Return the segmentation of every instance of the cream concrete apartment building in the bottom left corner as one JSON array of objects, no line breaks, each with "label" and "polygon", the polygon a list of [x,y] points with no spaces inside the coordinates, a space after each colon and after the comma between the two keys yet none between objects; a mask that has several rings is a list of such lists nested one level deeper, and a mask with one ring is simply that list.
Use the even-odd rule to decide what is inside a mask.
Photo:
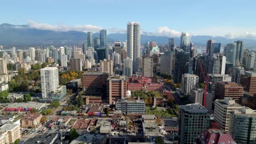
[{"label": "cream concrete apartment building in the bottom left corner", "polygon": [[7,123],[0,127],[1,143],[13,143],[17,139],[21,139],[20,124]]}]

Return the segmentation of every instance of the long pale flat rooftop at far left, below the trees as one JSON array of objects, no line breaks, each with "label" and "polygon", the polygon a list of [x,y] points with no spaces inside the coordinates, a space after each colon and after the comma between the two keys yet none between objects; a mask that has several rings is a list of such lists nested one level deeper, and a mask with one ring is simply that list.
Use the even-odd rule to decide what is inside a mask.
[{"label": "long pale flat rooftop at far left, below the trees", "polygon": [[37,102],[30,101],[28,103],[12,103],[12,104],[8,104],[7,107],[9,107],[9,108],[30,107],[30,108],[34,108],[34,109],[40,109],[44,105],[45,105],[45,103],[37,103]]}]

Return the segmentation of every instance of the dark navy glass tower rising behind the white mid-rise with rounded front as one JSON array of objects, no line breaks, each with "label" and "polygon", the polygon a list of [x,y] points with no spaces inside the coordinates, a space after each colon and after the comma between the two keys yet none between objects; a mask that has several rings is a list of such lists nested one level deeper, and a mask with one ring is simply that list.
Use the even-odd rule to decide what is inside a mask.
[{"label": "dark navy glass tower rising behind the white mid-rise with rounded front", "polygon": [[189,72],[189,52],[183,50],[175,50],[174,61],[174,82],[180,83],[182,81],[182,75]]}]

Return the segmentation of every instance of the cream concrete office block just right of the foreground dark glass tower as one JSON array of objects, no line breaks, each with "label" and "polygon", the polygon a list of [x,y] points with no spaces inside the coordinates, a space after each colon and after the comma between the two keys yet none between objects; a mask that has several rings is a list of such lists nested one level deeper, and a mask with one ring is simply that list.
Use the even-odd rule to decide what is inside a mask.
[{"label": "cream concrete office block just right of the foreground dark glass tower", "polygon": [[219,124],[219,128],[229,131],[229,118],[232,110],[240,110],[242,105],[237,104],[232,98],[215,100],[214,120]]}]

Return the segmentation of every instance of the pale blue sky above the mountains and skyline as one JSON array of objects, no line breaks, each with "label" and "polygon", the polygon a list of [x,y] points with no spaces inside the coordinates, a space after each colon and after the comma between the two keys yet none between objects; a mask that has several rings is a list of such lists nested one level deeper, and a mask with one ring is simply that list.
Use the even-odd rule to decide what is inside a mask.
[{"label": "pale blue sky above the mountains and skyline", "polygon": [[0,23],[54,31],[125,32],[129,21],[142,33],[212,35],[256,39],[254,0],[0,0]]}]

